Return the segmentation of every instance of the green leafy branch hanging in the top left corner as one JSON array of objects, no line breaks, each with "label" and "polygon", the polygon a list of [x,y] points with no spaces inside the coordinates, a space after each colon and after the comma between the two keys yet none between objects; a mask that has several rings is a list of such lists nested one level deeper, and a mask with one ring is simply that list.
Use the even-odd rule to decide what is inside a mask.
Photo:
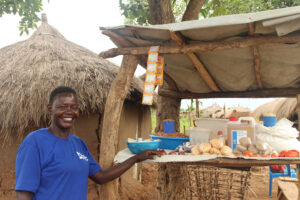
[{"label": "green leafy branch hanging in the top left corner", "polygon": [[0,17],[4,14],[18,14],[20,35],[29,33],[29,29],[37,28],[40,18],[37,13],[43,10],[42,0],[0,0]]}]

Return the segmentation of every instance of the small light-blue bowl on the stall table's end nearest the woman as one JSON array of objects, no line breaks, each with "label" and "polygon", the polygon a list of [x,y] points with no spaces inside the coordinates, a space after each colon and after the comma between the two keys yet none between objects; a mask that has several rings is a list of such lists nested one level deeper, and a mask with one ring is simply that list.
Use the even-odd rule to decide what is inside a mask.
[{"label": "small light-blue bowl on the stall table's end nearest the woman", "polygon": [[[153,141],[153,140],[152,140]],[[128,149],[133,154],[138,154],[146,150],[157,150],[160,144],[160,141],[153,142],[128,142],[126,141]]]}]

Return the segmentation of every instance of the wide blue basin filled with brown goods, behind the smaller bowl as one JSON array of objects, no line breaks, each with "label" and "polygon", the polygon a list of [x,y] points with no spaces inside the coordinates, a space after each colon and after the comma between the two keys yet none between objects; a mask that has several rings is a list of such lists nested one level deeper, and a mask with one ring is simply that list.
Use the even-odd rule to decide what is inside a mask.
[{"label": "wide blue basin filled with brown goods, behind the smaller bowl", "polygon": [[185,142],[189,142],[190,138],[176,138],[176,137],[163,137],[149,135],[152,139],[160,139],[159,148],[160,149],[170,149],[175,150],[178,146],[182,145]]}]

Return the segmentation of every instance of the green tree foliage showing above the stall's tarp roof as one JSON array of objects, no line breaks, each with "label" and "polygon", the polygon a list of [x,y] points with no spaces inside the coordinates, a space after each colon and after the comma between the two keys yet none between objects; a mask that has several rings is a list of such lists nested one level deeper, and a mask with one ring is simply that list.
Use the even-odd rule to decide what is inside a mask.
[{"label": "green tree foliage showing above the stall's tarp roof", "polygon": [[[176,22],[181,21],[189,0],[170,0]],[[119,0],[125,23],[149,25],[151,18],[147,0]],[[207,0],[200,10],[202,18],[258,12],[300,5],[300,0]]]}]

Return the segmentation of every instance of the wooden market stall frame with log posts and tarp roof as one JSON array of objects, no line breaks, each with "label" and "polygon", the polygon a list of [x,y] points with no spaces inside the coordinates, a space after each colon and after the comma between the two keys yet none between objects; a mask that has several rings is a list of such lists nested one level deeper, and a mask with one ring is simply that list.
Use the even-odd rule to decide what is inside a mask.
[{"label": "wooden market stall frame with log posts and tarp roof", "polygon": [[[165,63],[163,85],[158,90],[156,132],[162,131],[163,120],[170,118],[175,119],[178,130],[180,100],[188,98],[297,97],[299,116],[299,20],[299,7],[292,7],[148,27],[102,27],[102,33],[118,48],[100,56],[124,57],[108,96],[101,140],[116,144],[124,91],[137,64],[147,67],[147,55],[153,46],[159,46],[158,54],[164,56]],[[112,165],[116,153],[114,145],[101,144],[101,164]],[[297,164],[299,169],[299,160],[285,158],[216,157],[193,164],[240,168],[288,163]],[[169,170],[177,177],[186,173],[185,165],[173,167],[173,163],[162,163],[159,174],[172,177]],[[170,185],[179,183],[176,178],[168,181]],[[160,187],[167,196],[171,192],[163,184]],[[106,185],[104,192],[117,194],[116,184]]]}]

